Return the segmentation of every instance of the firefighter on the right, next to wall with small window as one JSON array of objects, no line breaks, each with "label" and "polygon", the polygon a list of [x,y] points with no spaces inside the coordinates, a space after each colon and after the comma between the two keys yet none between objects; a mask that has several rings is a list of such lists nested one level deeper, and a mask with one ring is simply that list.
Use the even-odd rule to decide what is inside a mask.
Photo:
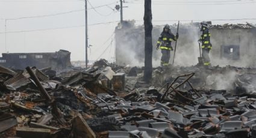
[{"label": "firefighter on the right, next to wall with small window", "polygon": [[202,59],[205,66],[211,65],[209,52],[212,48],[210,37],[211,34],[209,32],[209,27],[207,22],[201,22],[201,31],[202,35],[201,38],[198,40],[198,42],[202,43]]}]

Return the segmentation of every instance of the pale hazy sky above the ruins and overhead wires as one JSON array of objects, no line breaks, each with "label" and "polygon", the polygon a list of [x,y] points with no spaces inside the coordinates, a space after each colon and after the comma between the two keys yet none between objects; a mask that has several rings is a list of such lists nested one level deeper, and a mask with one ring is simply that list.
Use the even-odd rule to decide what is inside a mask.
[{"label": "pale hazy sky above the ruins and overhead wires", "polygon": [[[89,59],[114,56],[114,28],[120,12],[119,0],[89,0]],[[143,24],[143,0],[125,0],[123,19]],[[102,6],[106,5],[106,6]],[[254,0],[152,0],[153,25],[170,20],[213,20],[219,23],[256,23]],[[84,1],[0,0],[0,53],[55,52],[69,50],[72,61],[84,60]],[[219,20],[226,19],[226,20]],[[246,19],[246,20],[228,20]],[[254,20],[249,20],[254,19]],[[5,47],[5,20],[7,22]],[[186,21],[185,21],[186,20]]]}]

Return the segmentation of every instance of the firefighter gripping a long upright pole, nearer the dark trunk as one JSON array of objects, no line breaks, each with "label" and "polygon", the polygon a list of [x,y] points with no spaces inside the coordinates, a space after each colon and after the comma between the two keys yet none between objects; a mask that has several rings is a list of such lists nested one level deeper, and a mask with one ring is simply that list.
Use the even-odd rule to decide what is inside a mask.
[{"label": "firefighter gripping a long upright pole, nearer the dark trunk", "polygon": [[161,32],[160,37],[157,41],[157,50],[160,48],[162,57],[161,57],[161,66],[167,66],[169,65],[169,59],[170,59],[170,50],[173,50],[172,48],[172,41],[176,41],[179,37],[178,32],[176,33],[176,36],[170,32],[170,26],[165,25],[163,28],[163,32]]}]

